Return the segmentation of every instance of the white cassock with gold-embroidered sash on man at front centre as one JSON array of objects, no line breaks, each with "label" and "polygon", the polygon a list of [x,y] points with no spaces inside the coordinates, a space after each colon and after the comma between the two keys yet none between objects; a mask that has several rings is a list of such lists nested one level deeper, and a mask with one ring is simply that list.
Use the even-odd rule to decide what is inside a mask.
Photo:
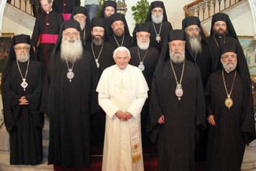
[{"label": "white cassock with gold-embroidered sash on man at front centre", "polygon": [[[148,85],[141,70],[127,65],[121,70],[113,65],[104,70],[96,88],[98,101],[106,112],[103,171],[144,170],[140,112],[148,98]],[[116,112],[129,112],[132,117],[121,121]]]}]

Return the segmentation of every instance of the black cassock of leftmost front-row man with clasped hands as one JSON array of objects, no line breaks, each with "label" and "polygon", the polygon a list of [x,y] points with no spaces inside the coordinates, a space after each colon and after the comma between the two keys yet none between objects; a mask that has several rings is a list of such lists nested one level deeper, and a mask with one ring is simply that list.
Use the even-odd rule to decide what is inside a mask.
[{"label": "black cassock of leftmost front-row man with clasped hands", "polygon": [[[19,65],[24,77],[27,62],[19,62]],[[36,165],[43,159],[41,130],[44,115],[39,110],[43,77],[40,63],[30,60],[25,91],[20,86],[22,77],[16,60],[12,62],[9,78],[9,88],[3,90],[3,107],[4,122],[10,133],[10,164]],[[28,105],[19,105],[22,96],[29,101]]]}]

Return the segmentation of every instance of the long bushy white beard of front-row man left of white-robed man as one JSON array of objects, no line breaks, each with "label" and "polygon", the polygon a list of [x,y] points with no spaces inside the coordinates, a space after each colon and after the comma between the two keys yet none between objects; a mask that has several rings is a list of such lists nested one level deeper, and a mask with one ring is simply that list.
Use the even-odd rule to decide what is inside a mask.
[{"label": "long bushy white beard of front-row man left of white-robed man", "polygon": [[[70,39],[69,39],[70,40]],[[74,42],[69,42],[69,40],[64,40],[64,36],[61,41],[61,59],[67,62],[75,62],[82,58],[83,46],[80,36],[78,40]]]}]

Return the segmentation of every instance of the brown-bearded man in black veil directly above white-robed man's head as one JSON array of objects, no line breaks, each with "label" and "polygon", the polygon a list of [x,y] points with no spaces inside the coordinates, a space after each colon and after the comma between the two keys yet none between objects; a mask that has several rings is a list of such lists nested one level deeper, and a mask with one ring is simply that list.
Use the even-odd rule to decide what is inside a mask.
[{"label": "brown-bearded man in black veil directly above white-robed man's head", "polygon": [[116,13],[111,15],[108,21],[107,31],[108,42],[112,44],[115,49],[120,46],[130,48],[132,37],[130,36],[124,14]]}]

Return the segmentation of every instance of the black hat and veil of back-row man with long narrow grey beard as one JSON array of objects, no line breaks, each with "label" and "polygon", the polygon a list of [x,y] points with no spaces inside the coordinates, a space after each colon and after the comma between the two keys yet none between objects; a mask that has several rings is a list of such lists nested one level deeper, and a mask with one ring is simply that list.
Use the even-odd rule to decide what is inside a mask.
[{"label": "black hat and veil of back-row man with long narrow grey beard", "polygon": [[202,41],[204,41],[204,43],[208,44],[205,34],[203,33],[203,28],[202,28],[201,22],[198,19],[198,17],[195,17],[195,16],[186,17],[185,19],[182,20],[182,30],[185,30],[190,25],[197,25],[197,27],[200,28],[200,35],[202,37]]}]

